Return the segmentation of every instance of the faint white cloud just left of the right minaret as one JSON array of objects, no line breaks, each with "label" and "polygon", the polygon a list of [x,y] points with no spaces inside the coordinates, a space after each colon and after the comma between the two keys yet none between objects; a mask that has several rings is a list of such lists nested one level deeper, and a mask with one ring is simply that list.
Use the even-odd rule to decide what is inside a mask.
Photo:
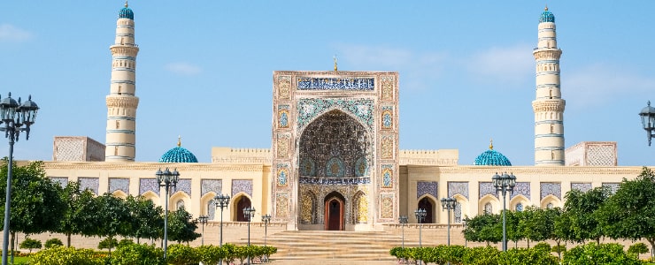
[{"label": "faint white cloud just left of the right minaret", "polygon": [[491,48],[475,53],[464,64],[469,72],[484,82],[518,84],[535,77],[535,59],[527,44]]}]

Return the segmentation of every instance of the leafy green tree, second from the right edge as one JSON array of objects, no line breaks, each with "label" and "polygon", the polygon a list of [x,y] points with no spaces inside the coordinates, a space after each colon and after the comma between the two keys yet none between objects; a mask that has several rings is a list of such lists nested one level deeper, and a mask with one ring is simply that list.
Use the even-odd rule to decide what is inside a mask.
[{"label": "leafy green tree, second from the right edge", "polygon": [[594,213],[603,206],[610,196],[610,189],[606,186],[596,187],[586,193],[579,190],[566,193],[564,211],[568,223],[571,225],[570,231],[572,234],[570,238],[573,241],[582,243],[587,239],[593,239],[599,244],[604,233]]}]

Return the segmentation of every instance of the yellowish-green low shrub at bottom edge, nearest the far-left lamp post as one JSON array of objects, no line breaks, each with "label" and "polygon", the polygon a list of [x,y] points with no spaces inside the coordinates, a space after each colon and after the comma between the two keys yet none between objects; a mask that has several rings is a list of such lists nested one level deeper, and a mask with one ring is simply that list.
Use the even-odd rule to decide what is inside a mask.
[{"label": "yellowish-green low shrub at bottom edge, nearest the far-left lamp post", "polygon": [[32,255],[30,265],[104,265],[104,259],[90,249],[55,246]]}]

